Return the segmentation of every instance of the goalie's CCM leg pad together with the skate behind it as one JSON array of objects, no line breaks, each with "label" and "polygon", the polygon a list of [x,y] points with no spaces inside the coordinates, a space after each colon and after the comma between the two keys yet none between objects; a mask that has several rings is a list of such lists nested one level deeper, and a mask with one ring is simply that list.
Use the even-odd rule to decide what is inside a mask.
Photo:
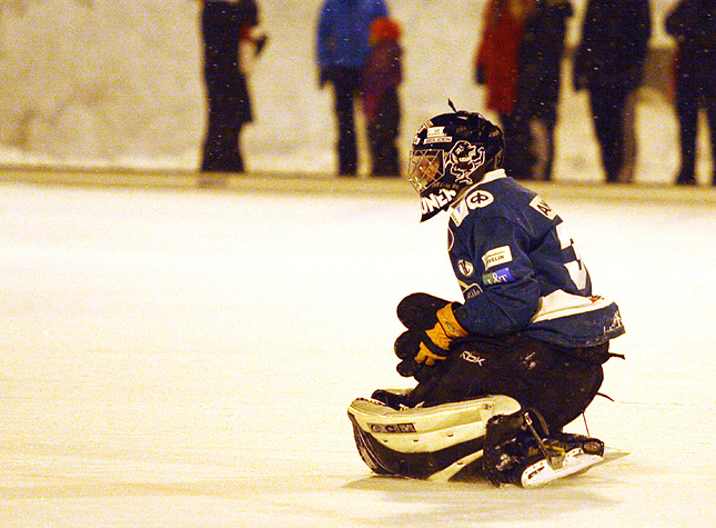
[{"label": "goalie's CCM leg pad together with the skate behind it", "polygon": [[[374,392],[400,399],[405,391]],[[349,407],[359,454],[379,475],[460,480],[486,478],[526,488],[584,471],[604,460],[595,438],[549,435],[538,412],[507,396],[434,407],[389,407],[359,398]]]}]

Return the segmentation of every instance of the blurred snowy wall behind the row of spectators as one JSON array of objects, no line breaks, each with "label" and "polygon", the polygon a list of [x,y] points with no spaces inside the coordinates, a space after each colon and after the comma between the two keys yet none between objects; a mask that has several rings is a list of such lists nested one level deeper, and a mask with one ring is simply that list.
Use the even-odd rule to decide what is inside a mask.
[{"label": "blurred snowy wall behind the row of spectators", "polygon": [[[652,2],[652,46],[672,44],[663,19],[673,1]],[[447,97],[482,107],[471,61],[485,0],[387,3],[404,27],[406,145]],[[571,42],[584,3],[575,2]],[[315,82],[321,0],[259,4],[271,41],[249,64],[256,118],[243,136],[249,169],[333,172],[332,96]],[[1,165],[196,168],[205,112],[196,1],[0,0],[0,64]],[[586,96],[566,83],[561,110],[556,178],[601,178]],[[637,178],[670,180],[676,132],[663,94],[643,90],[638,126],[648,141]]]}]

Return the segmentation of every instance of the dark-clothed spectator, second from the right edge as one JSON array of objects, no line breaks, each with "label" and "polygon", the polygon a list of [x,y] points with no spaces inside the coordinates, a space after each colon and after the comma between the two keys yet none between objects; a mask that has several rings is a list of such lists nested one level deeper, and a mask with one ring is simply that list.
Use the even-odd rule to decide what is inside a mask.
[{"label": "dark-clothed spectator, second from the right edge", "polygon": [[574,88],[587,89],[607,182],[631,182],[635,106],[652,19],[648,0],[588,0],[574,58]]}]

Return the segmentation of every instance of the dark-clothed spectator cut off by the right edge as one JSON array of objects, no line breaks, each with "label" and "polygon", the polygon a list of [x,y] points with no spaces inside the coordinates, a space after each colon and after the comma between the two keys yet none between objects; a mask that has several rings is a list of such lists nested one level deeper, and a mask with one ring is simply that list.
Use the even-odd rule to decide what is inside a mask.
[{"label": "dark-clothed spectator cut off by the right edge", "polygon": [[716,0],[682,0],[666,17],[666,31],[676,39],[676,116],[680,141],[677,185],[696,185],[698,109],[708,120],[716,186]]}]

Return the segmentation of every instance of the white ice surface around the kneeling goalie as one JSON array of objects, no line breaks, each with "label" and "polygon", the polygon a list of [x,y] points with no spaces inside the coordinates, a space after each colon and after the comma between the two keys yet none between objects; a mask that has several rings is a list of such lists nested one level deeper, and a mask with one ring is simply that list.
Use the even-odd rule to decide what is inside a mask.
[{"label": "white ice surface around the kneeling goalie", "polygon": [[622,308],[587,421],[632,455],[523,490],[355,451],[395,305],[460,297],[411,192],[0,183],[0,526],[715,526],[716,197],[579,189],[541,192]]}]

